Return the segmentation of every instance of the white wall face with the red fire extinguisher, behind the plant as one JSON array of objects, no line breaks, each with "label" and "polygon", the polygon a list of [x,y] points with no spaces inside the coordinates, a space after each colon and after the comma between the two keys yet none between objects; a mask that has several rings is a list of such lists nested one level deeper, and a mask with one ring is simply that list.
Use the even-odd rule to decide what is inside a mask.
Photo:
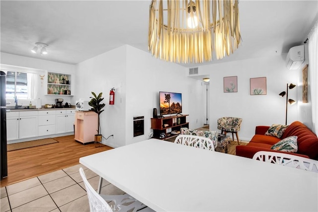
[{"label": "white wall face with the red fire extinguisher, behind the plant", "polygon": [[[118,147],[125,145],[125,92],[126,92],[126,47],[122,46],[112,51],[88,59],[77,65],[76,99],[87,99],[91,91],[102,92],[104,112],[100,114],[101,134],[108,138],[102,142]],[[109,105],[109,91],[115,87],[115,104]]]}]

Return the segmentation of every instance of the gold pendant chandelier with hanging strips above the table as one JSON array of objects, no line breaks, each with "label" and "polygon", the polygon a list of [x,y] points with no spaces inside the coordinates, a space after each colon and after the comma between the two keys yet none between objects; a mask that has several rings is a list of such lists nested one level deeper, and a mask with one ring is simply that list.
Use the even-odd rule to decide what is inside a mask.
[{"label": "gold pendant chandelier with hanging strips above the table", "polygon": [[152,0],[148,49],[174,63],[202,63],[239,47],[238,0]]}]

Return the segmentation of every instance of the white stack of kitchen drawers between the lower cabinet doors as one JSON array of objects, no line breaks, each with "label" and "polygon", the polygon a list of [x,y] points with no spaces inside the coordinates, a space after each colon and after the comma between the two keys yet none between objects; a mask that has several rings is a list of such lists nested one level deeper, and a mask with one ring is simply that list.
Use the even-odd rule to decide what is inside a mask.
[{"label": "white stack of kitchen drawers between the lower cabinet doors", "polygon": [[39,111],[39,136],[55,134],[55,110]]}]

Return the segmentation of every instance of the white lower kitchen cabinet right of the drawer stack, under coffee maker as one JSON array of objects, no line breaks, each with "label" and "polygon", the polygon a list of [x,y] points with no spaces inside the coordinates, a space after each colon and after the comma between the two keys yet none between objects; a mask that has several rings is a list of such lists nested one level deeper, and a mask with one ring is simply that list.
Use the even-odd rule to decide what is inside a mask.
[{"label": "white lower kitchen cabinet right of the drawer stack, under coffee maker", "polygon": [[75,110],[56,111],[56,134],[73,132]]}]

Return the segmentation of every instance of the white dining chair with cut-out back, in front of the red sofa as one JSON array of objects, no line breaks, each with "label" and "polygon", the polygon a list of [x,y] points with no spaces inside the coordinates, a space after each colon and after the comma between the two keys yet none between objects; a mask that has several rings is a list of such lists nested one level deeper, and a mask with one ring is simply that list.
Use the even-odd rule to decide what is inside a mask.
[{"label": "white dining chair with cut-out back, in front of the red sofa", "polygon": [[271,151],[258,151],[254,154],[253,159],[318,173],[317,160],[300,157],[293,154]]}]

